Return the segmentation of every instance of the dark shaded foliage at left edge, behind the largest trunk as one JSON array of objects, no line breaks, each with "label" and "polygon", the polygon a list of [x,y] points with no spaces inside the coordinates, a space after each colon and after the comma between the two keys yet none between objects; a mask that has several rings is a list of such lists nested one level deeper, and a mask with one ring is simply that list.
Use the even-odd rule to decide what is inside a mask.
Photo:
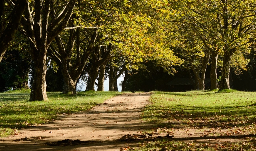
[{"label": "dark shaded foliage at left edge, behind the largest trunk", "polygon": [[18,32],[13,41],[0,63],[0,91],[29,88],[28,79],[32,65],[29,44],[26,37]]}]

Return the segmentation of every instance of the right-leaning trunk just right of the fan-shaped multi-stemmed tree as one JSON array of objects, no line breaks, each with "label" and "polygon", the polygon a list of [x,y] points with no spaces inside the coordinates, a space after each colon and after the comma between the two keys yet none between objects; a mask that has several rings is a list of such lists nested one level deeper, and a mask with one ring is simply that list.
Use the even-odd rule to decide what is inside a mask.
[{"label": "right-leaning trunk just right of the fan-shaped multi-stemmed tree", "polygon": [[86,86],[86,90],[85,91],[95,91],[94,86],[95,86],[95,81],[96,78],[98,77],[98,73],[99,73],[99,67],[91,67],[88,77],[88,81],[87,81],[87,86]]}]

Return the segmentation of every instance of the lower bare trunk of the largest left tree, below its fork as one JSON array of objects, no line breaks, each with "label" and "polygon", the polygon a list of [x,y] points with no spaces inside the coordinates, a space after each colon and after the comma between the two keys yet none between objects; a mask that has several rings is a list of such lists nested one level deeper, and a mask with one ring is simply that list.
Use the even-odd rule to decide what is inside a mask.
[{"label": "lower bare trunk of the largest left tree, below its fork", "polygon": [[31,93],[29,98],[30,101],[48,100],[46,95],[46,82],[45,82],[45,75],[47,70],[46,53],[43,58],[44,58],[43,61],[34,60],[35,74],[34,74],[33,84],[31,87]]}]

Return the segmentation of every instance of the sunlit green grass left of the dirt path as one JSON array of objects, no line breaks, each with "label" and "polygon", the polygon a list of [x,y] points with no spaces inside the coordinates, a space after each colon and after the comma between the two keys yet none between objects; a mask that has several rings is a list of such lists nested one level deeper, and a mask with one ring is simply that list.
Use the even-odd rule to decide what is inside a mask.
[{"label": "sunlit green grass left of the dirt path", "polygon": [[31,125],[47,123],[63,113],[86,111],[120,92],[79,92],[77,96],[48,92],[50,101],[28,101],[30,90],[0,93],[0,137]]}]

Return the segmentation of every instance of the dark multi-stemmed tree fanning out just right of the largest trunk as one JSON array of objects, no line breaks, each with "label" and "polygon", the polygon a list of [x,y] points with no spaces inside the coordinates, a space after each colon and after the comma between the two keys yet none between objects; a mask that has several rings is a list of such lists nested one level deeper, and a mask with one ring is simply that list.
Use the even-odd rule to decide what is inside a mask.
[{"label": "dark multi-stemmed tree fanning out just right of the largest trunk", "polygon": [[[65,83],[62,91],[64,94],[70,93],[76,95],[76,83],[87,64],[90,53],[94,49],[93,44],[97,38],[97,32],[83,32],[87,33],[84,41],[80,40],[80,28],[77,28],[76,30],[70,29],[68,35],[63,35],[64,37],[69,36],[66,43],[61,39],[61,35],[58,35],[54,42],[58,49],[56,49],[53,44],[49,48],[52,58],[56,61],[64,77]],[[81,43],[84,43],[85,45],[81,47]],[[75,52],[74,44],[76,44]]]}]

